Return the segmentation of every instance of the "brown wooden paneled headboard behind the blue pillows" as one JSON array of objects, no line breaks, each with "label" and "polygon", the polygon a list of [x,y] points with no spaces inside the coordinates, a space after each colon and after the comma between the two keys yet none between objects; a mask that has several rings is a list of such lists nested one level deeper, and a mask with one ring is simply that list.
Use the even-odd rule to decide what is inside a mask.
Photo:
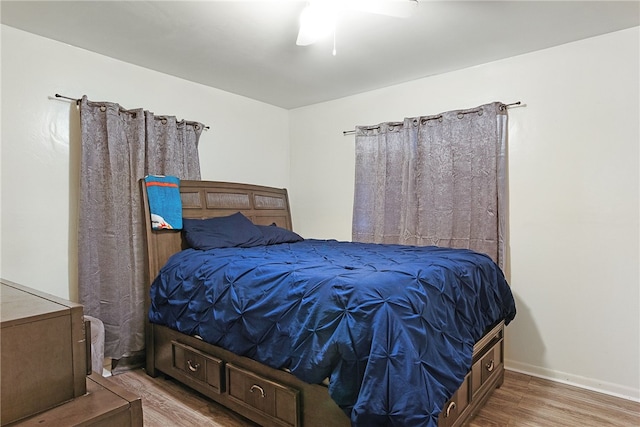
[{"label": "brown wooden paneled headboard behind the blue pillows", "polygon": [[[182,233],[174,230],[153,230],[149,200],[144,179],[140,180],[145,224],[147,269],[145,282],[149,286],[169,257],[187,246]],[[217,181],[180,181],[183,218],[214,218],[241,212],[258,225],[271,225],[291,230],[289,197],[284,188]]]}]

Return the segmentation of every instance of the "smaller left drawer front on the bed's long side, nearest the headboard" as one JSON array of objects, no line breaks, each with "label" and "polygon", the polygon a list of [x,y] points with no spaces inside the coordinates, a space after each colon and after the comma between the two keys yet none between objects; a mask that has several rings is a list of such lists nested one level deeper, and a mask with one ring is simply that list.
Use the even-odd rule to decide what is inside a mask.
[{"label": "smaller left drawer front on the bed's long side, nearest the headboard", "polygon": [[193,380],[206,384],[216,393],[224,391],[222,360],[178,341],[172,341],[171,344],[174,369],[180,370]]}]

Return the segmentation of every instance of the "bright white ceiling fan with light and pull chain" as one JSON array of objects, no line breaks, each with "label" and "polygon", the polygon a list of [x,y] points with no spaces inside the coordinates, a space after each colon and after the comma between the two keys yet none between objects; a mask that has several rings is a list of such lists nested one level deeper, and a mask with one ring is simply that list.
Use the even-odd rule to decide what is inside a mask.
[{"label": "bright white ceiling fan with light and pull chain", "polygon": [[348,11],[407,18],[418,5],[418,0],[311,0],[300,14],[300,31],[296,44],[308,46],[333,34],[340,16]]}]

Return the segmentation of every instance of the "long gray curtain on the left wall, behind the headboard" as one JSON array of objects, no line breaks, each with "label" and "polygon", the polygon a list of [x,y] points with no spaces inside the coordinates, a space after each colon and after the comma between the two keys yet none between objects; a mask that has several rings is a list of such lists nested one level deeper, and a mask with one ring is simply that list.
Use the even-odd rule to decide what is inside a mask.
[{"label": "long gray curtain on the left wall, behind the headboard", "polygon": [[139,180],[200,179],[203,125],[118,104],[80,101],[80,303],[104,323],[104,355],[144,349],[144,231]]}]

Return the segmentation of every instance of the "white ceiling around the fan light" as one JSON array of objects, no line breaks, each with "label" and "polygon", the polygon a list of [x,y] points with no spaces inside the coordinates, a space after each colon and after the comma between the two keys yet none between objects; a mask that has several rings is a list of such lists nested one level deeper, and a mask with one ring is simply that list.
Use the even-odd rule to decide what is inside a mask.
[{"label": "white ceiling around the fan light", "polygon": [[640,25],[639,1],[430,1],[350,12],[296,46],[305,1],[7,1],[2,23],[283,108]]}]

